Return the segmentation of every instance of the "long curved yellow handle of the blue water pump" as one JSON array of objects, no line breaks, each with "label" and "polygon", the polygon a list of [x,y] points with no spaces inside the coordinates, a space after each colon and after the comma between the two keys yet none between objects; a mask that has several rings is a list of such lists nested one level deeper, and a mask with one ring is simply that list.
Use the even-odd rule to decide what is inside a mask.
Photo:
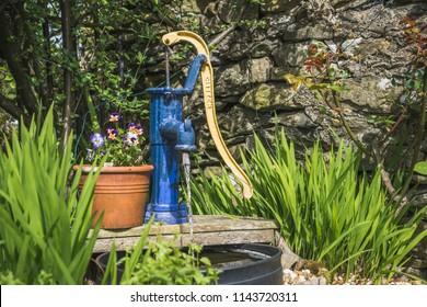
[{"label": "long curved yellow handle of the blue water pump", "polygon": [[209,132],[223,161],[230,168],[233,174],[242,182],[243,196],[251,198],[253,194],[252,183],[231,156],[222,139],[221,133],[219,132],[217,114],[215,112],[214,72],[212,65],[210,64],[208,46],[200,38],[200,36],[189,31],[171,32],[163,35],[162,37],[162,42],[166,46],[172,46],[176,43],[180,43],[181,41],[193,44],[196,47],[198,55],[206,55],[207,60],[200,68],[200,78],[204,89],[205,112]]}]

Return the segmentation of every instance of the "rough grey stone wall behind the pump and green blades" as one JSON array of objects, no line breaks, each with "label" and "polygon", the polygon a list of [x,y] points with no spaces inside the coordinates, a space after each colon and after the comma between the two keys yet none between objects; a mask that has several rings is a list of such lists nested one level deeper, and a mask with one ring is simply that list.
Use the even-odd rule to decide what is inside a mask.
[{"label": "rough grey stone wall behind the pump and green blades", "polygon": [[[254,133],[265,141],[273,139],[275,115],[301,152],[318,138],[326,150],[336,144],[331,128],[348,139],[336,112],[311,91],[295,91],[284,79],[286,73],[301,72],[313,39],[331,48],[341,45],[348,55],[339,65],[350,73],[346,81],[349,91],[342,101],[351,129],[367,145],[383,138],[385,129],[372,118],[396,115],[402,110],[403,88],[392,81],[402,80],[411,67],[402,19],[409,15],[427,24],[426,1],[265,0],[263,5],[253,2],[185,0],[180,10],[187,24],[191,19],[197,21],[200,33],[216,32],[203,36],[208,43],[217,42],[211,50],[217,116],[234,158],[239,160],[239,148],[253,145]],[[221,29],[228,31],[219,39]],[[217,172],[220,160],[207,130],[199,93],[196,91],[185,103],[185,113],[195,125],[200,166]],[[392,137],[413,135],[415,122],[403,121]],[[419,159],[426,159],[426,154],[424,141]],[[424,260],[418,268],[427,268],[426,242],[423,247]]]}]

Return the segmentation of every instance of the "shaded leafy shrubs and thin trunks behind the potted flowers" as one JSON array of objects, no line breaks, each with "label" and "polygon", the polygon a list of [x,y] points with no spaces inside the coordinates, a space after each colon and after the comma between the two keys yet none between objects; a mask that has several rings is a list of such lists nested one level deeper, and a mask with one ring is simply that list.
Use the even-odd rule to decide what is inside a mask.
[{"label": "shaded leafy shrubs and thin trunks behind the potted flowers", "polygon": [[108,111],[146,118],[137,82],[157,62],[171,14],[160,1],[2,2],[1,109],[30,124],[54,103],[56,130],[66,136],[74,127],[77,135],[96,130]]}]

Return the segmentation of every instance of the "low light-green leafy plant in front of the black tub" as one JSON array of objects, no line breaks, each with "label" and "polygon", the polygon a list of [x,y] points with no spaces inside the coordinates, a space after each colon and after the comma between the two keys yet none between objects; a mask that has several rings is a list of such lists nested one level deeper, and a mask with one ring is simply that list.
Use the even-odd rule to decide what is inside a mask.
[{"label": "low light-green leafy plant in front of the black tub", "polygon": [[[152,221],[147,225],[138,245],[117,261],[113,245],[103,284],[123,285],[208,285],[218,280],[219,271],[211,266],[209,259],[200,258],[201,247],[191,245],[187,251],[176,247],[176,242],[148,242]],[[117,265],[123,263],[124,273],[118,281]]]}]

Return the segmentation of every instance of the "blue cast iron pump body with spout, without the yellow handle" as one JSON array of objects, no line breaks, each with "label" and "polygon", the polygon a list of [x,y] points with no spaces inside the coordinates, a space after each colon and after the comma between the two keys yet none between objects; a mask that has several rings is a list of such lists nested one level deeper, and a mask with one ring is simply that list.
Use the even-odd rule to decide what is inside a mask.
[{"label": "blue cast iron pump body with spout, without the yellow handle", "polygon": [[[178,203],[181,154],[196,150],[195,133],[189,120],[183,121],[183,99],[196,84],[206,56],[192,62],[183,89],[150,88],[151,198],[146,208],[146,223],[182,224],[188,221],[185,204]],[[169,82],[168,82],[169,83]]]}]

